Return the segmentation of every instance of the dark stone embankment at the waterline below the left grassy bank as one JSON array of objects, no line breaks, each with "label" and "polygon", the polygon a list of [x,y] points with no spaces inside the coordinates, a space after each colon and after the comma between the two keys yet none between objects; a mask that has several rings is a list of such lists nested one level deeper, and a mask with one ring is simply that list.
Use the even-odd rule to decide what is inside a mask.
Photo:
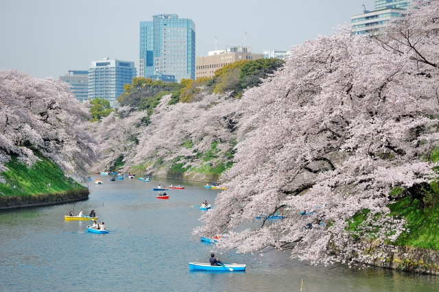
[{"label": "dark stone embankment at the waterline below the left grassy bank", "polygon": [[3,196],[0,197],[0,210],[78,202],[88,199],[88,195],[90,195],[88,188],[79,188],[71,191],[41,195]]}]

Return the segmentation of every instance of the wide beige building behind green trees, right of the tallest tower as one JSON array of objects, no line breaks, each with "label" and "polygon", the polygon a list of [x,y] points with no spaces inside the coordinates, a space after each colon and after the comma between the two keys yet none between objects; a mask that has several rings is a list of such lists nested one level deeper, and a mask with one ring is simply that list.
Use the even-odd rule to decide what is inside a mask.
[{"label": "wide beige building behind green trees, right of the tallest tower", "polygon": [[228,47],[227,49],[217,49],[209,51],[207,56],[197,57],[196,73],[197,78],[213,77],[217,69],[241,60],[263,59],[263,54],[252,53],[251,47]]}]

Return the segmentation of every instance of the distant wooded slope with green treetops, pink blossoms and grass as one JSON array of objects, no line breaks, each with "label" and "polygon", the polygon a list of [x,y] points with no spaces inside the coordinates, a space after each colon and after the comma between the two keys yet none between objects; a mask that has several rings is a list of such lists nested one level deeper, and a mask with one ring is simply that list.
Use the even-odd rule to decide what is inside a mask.
[{"label": "distant wooded slope with green treetops, pink blossoms and grass", "polygon": [[233,163],[235,101],[283,63],[244,60],[180,84],[135,77],[118,99],[121,107],[91,124],[103,154],[95,169],[219,180]]}]

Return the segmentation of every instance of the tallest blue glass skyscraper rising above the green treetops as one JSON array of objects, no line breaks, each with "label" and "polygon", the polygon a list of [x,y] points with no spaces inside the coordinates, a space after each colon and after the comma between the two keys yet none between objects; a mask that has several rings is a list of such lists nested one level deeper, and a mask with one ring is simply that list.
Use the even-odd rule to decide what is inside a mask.
[{"label": "tallest blue glass skyscraper rising above the green treetops", "polygon": [[139,77],[174,75],[195,79],[195,23],[177,14],[159,14],[140,23]]}]

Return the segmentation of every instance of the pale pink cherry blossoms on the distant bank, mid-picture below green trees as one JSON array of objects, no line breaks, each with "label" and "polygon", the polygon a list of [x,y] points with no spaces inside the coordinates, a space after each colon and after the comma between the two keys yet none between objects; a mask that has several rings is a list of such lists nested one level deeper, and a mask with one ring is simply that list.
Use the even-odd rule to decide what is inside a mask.
[{"label": "pale pink cherry blossoms on the distant bank, mid-picture below green trees", "polygon": [[[205,95],[200,101],[171,106],[168,105],[169,99],[170,95],[161,99],[150,125],[141,130],[139,145],[127,158],[128,165],[145,165],[147,173],[154,171],[157,175],[166,175],[169,166],[161,168],[161,165],[148,162],[162,158],[165,165],[185,158],[185,166],[196,168],[203,164],[197,154],[209,151],[214,141],[219,142],[217,148],[220,154],[233,149],[233,130],[239,104],[236,99],[228,95]],[[184,147],[187,142],[192,147]],[[219,157],[217,163],[227,160]],[[199,175],[201,179],[202,174]]]}]

